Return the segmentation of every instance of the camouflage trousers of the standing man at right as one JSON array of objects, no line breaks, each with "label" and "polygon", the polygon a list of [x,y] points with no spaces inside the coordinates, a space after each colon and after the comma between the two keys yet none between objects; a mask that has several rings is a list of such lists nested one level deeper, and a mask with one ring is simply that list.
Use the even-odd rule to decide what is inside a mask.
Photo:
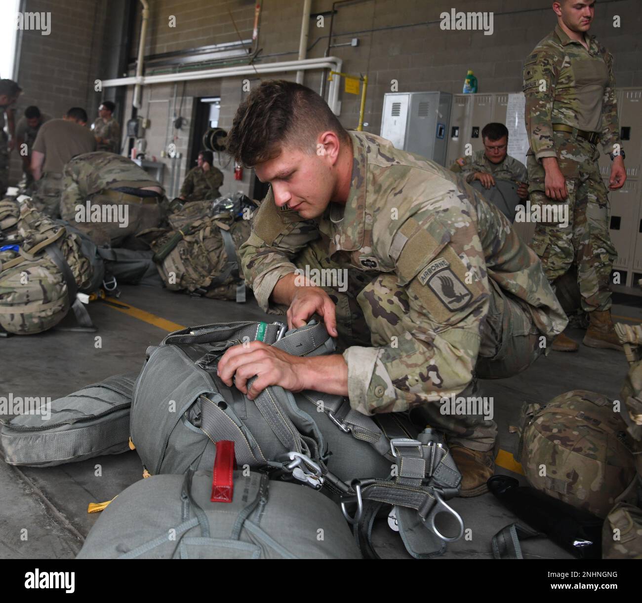
[{"label": "camouflage trousers of the standing man at right", "polygon": [[[609,236],[609,197],[600,175],[598,149],[587,140],[572,139],[555,132],[560,171],[566,179],[569,223],[537,223],[531,247],[542,260],[549,282],[566,274],[577,264],[577,280],[582,309],[608,310],[611,307],[609,278],[618,253]],[[528,156],[528,192],[532,206],[557,204],[546,196],[544,168],[533,155]]]}]

